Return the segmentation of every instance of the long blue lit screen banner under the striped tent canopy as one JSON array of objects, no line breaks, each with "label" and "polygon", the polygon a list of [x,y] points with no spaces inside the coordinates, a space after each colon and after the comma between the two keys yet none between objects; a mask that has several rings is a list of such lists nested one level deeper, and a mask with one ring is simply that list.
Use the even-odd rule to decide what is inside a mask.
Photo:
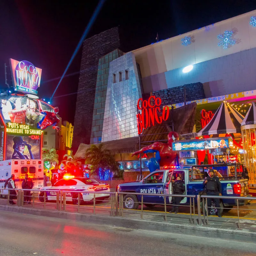
[{"label": "long blue lit screen banner under the striped tent canopy", "polygon": [[209,138],[202,140],[179,140],[172,142],[172,150],[205,150],[214,148],[233,147],[233,140],[230,137]]}]

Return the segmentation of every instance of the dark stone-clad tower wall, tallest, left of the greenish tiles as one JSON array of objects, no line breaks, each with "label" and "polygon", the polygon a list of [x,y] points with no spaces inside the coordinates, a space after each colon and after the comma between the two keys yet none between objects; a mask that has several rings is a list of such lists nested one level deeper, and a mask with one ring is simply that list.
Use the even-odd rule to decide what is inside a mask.
[{"label": "dark stone-clad tower wall, tallest, left of the greenish tiles", "polygon": [[74,151],[90,144],[98,64],[101,56],[120,48],[118,27],[101,32],[83,43],[74,122]]}]

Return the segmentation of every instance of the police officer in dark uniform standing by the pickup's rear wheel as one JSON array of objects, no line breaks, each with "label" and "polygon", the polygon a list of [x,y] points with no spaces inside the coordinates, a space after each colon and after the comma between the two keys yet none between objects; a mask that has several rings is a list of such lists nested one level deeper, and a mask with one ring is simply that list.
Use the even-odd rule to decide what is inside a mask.
[{"label": "police officer in dark uniform standing by the pickup's rear wheel", "polygon": [[[208,171],[209,176],[206,177],[206,179],[203,182],[203,185],[205,187],[206,195],[208,196],[221,196],[221,183],[218,177],[214,176],[213,169],[209,169]],[[207,198],[207,211],[208,215],[210,215],[212,200],[215,203],[217,210],[218,217],[221,217],[220,215],[220,199],[218,198]]]}]

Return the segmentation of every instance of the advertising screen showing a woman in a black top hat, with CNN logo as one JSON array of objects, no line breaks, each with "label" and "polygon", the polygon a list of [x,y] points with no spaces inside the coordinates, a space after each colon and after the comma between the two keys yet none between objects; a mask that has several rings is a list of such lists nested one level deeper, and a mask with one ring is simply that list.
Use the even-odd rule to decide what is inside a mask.
[{"label": "advertising screen showing a woman in a black top hat, with CNN logo", "polygon": [[6,135],[5,160],[40,159],[41,135]]}]

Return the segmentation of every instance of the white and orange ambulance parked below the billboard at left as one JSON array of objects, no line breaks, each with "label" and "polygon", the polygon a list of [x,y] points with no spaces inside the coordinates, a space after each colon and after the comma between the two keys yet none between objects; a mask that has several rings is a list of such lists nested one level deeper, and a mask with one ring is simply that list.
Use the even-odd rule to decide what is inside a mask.
[{"label": "white and orange ambulance parked below the billboard at left", "polygon": [[5,197],[8,190],[4,189],[4,183],[14,174],[16,189],[21,188],[25,174],[33,180],[33,189],[44,186],[44,161],[41,159],[11,159],[0,161],[0,194]]}]

